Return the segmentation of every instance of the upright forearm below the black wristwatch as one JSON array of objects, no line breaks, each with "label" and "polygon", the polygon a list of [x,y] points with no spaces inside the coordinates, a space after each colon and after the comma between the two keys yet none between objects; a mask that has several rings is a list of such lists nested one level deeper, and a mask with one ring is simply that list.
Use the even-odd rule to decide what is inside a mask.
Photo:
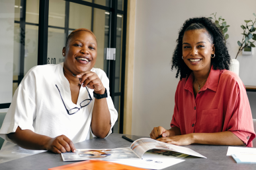
[{"label": "upright forearm below the black wristwatch", "polygon": [[108,110],[107,99],[95,99],[91,120],[91,130],[93,134],[98,138],[105,138],[110,127],[110,112]]}]

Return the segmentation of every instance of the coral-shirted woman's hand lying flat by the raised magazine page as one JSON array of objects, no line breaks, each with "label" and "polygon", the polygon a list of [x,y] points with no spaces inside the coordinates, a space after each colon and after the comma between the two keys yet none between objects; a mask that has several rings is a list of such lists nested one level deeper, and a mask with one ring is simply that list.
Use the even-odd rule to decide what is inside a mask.
[{"label": "coral-shirted woman's hand lying flat by the raised magazine page", "polygon": [[189,145],[194,143],[192,134],[183,134],[177,136],[171,136],[167,138],[158,138],[157,140],[168,144],[174,144],[178,146]]}]

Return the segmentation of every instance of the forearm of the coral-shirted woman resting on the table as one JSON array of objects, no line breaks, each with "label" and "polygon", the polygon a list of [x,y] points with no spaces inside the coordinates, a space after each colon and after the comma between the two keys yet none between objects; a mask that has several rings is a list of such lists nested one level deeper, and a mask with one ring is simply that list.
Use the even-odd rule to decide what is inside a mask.
[{"label": "forearm of the coral-shirted woman resting on the table", "polygon": [[244,146],[234,133],[230,131],[216,133],[192,133],[192,144],[211,144],[211,145],[237,145]]}]

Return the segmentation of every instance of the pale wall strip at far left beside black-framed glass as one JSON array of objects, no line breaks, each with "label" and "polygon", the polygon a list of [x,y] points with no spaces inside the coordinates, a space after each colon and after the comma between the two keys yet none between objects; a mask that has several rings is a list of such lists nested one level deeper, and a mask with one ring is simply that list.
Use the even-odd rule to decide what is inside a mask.
[{"label": "pale wall strip at far left beside black-framed glass", "polygon": [[14,5],[14,0],[0,2],[0,103],[11,103],[13,96]]}]

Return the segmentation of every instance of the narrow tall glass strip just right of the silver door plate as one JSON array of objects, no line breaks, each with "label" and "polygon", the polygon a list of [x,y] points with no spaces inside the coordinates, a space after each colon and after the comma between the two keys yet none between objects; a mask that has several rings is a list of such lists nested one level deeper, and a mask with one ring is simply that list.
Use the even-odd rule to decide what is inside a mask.
[{"label": "narrow tall glass strip just right of the silver door plate", "polygon": [[114,78],[114,92],[121,91],[121,71],[122,71],[122,15],[117,14],[116,23],[116,72]]}]

